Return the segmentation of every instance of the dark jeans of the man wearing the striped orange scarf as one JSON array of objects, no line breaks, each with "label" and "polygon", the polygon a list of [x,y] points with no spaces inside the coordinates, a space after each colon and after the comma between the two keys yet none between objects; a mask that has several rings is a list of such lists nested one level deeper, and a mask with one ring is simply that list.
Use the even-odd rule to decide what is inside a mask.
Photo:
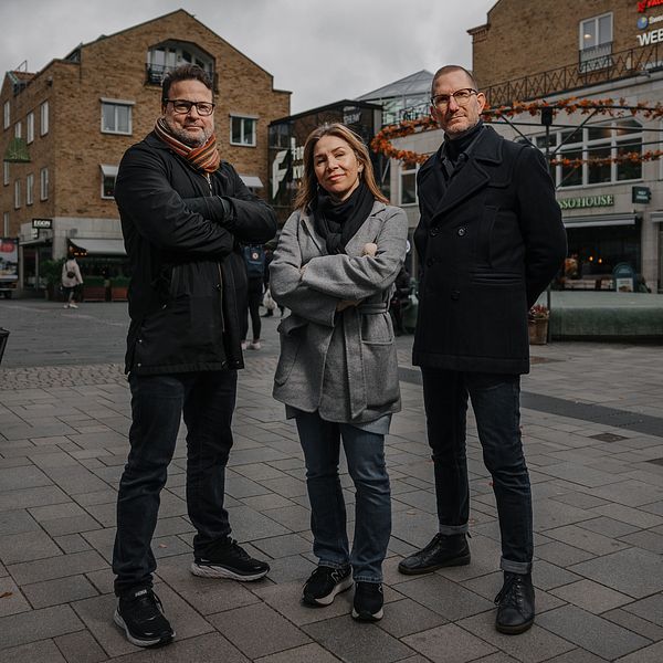
[{"label": "dark jeans of the man wearing the striped orange scarf", "polygon": [[193,549],[204,550],[230,534],[223,493],[236,379],[234,370],[129,376],[130,451],[119,482],[113,550],[117,596],[131,588],[151,587],[157,562],[150,544],[182,413],[187,424],[187,508],[197,530]]}]

